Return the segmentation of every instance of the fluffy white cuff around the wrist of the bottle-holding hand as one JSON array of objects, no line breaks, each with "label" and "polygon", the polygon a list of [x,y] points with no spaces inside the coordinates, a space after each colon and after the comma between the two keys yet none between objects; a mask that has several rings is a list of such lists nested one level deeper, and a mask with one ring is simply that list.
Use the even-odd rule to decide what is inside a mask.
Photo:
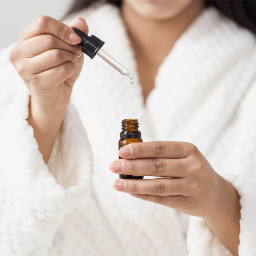
[{"label": "fluffy white cuff around the wrist of the bottle-holding hand", "polygon": [[[241,204],[239,256],[256,255],[256,182],[223,175],[237,190]],[[191,217],[187,232],[189,256],[232,256],[200,217]]]}]

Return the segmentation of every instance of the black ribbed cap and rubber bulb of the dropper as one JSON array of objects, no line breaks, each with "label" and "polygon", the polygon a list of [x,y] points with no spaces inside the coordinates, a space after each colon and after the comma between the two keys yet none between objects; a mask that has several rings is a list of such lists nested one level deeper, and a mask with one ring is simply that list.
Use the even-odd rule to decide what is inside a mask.
[{"label": "black ribbed cap and rubber bulb of the dropper", "polygon": [[93,59],[98,50],[100,50],[100,48],[102,47],[102,45],[104,45],[105,42],[101,41],[95,35],[91,35],[89,37],[89,35],[85,35],[85,33],[83,33],[77,28],[72,28],[72,30],[74,30],[74,32],[76,32],[82,39],[82,42],[80,43],[80,45],[82,45],[82,52],[84,52],[91,59]]}]

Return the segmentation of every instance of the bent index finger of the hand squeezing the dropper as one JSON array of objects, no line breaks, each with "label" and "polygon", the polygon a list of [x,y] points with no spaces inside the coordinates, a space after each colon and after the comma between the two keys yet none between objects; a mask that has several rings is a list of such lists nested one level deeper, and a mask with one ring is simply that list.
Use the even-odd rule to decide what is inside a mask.
[{"label": "bent index finger of the hand squeezing the dropper", "polygon": [[81,42],[81,38],[66,24],[52,17],[43,15],[33,20],[21,33],[19,41],[42,34],[52,34],[62,41],[76,45]]}]

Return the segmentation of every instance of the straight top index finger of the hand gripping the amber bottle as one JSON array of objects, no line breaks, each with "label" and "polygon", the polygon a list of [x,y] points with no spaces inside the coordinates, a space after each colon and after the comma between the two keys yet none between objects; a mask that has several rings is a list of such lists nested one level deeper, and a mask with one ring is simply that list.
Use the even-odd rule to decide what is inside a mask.
[{"label": "straight top index finger of the hand gripping the amber bottle", "polygon": [[180,141],[150,141],[131,143],[120,148],[118,155],[127,159],[138,158],[186,158],[196,148]]}]

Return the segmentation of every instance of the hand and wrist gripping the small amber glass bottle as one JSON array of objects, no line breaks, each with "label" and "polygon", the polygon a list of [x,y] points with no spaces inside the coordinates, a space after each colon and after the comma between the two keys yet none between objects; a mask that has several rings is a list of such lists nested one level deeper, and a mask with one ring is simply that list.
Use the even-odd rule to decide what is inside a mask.
[{"label": "hand and wrist gripping the small amber glass bottle", "polygon": [[115,180],[118,191],[202,217],[233,255],[238,255],[240,205],[236,189],[217,174],[191,143],[132,143],[111,163],[114,173],[161,178]]}]

